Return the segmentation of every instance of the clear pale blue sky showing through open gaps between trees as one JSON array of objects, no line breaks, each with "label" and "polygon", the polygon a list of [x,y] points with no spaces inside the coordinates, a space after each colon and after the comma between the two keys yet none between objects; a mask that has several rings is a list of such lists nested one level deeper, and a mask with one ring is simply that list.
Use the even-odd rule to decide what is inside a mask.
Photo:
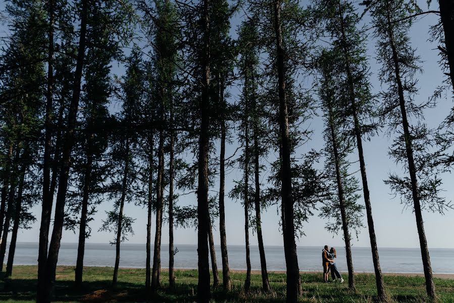
[{"label": "clear pale blue sky showing through open gaps between trees", "polygon": [[[426,9],[426,1],[419,1],[422,8]],[[304,1],[306,3],[306,1]],[[436,2],[434,2],[436,3]],[[432,9],[438,7],[432,5]],[[238,16],[233,21],[234,26],[238,24]],[[438,66],[438,52],[436,44],[430,44],[429,26],[437,21],[437,16],[428,15],[418,19],[411,30],[412,43],[418,48],[418,53],[424,61],[424,73],[419,75],[419,98],[426,100],[441,83],[443,79],[442,72]],[[372,71],[372,85],[375,92],[381,89],[380,82],[377,80],[377,70],[379,65],[375,60],[375,45],[374,41],[369,42],[368,55],[370,56],[370,64]],[[114,69],[116,73],[122,73],[120,67]],[[231,88],[232,93],[237,91],[237,88]],[[233,93],[233,96],[235,94]],[[452,96],[447,94],[445,98],[439,100],[438,107],[426,112],[426,121],[430,126],[437,126],[447,115],[449,109],[454,106]],[[302,146],[297,153],[305,153],[310,148],[320,149],[323,146],[323,122],[320,117],[314,117],[311,121],[311,128],[314,130],[313,139],[305,146]],[[416,230],[415,216],[411,210],[403,210],[400,205],[399,198],[392,198],[389,188],[384,184],[383,180],[387,178],[389,172],[400,171],[400,167],[396,166],[388,157],[389,139],[385,134],[373,137],[371,141],[364,143],[368,179],[370,184],[370,193],[372,201],[372,211],[375,220],[375,229],[379,247],[418,247],[418,234]],[[227,155],[230,156],[236,149],[235,145],[228,146]],[[357,155],[353,155],[357,157]],[[359,169],[354,167],[352,171]],[[233,179],[240,179],[241,173],[232,171],[226,176],[226,192],[233,186]],[[266,179],[266,178],[264,178]],[[452,187],[454,178],[450,174],[443,175],[444,192],[446,198],[451,200],[454,197],[454,188]],[[187,205],[195,204],[195,195],[185,195],[180,198],[178,204]],[[363,203],[360,198],[360,203]],[[100,205],[98,213],[95,215],[95,220],[90,222],[92,227],[92,236],[88,242],[108,243],[113,239],[113,234],[105,232],[97,232],[101,225],[101,221],[106,217],[105,211],[111,209],[110,201],[105,201]],[[21,230],[18,235],[18,241],[38,241],[39,232],[39,215],[40,206],[36,206],[33,212],[37,215],[38,221],[30,230]],[[136,218],[133,225],[135,235],[129,237],[130,243],[144,243],[146,239],[146,211],[134,205],[125,207],[125,214]],[[449,240],[452,237],[446,237],[449,231],[454,230],[454,211],[447,212],[445,216],[425,212],[423,214],[426,236],[428,245],[431,248],[454,248],[454,242]],[[263,236],[265,245],[282,245],[282,235],[278,229],[279,215],[276,207],[271,207],[262,215],[263,219]],[[153,220],[155,218],[153,217]],[[367,225],[366,220],[364,220]],[[215,223],[217,226],[218,223]],[[239,203],[232,201],[226,197],[226,227],[227,227],[227,243],[228,244],[244,244],[244,212]],[[215,243],[219,244],[219,229],[216,227]],[[153,235],[155,226],[153,226]],[[325,243],[332,246],[343,246],[342,237],[333,235],[325,231],[324,221],[317,217],[310,218],[305,224],[306,236],[297,240],[298,245],[316,245],[323,246]],[[177,229],[174,233],[176,244],[196,244],[197,234],[194,230]],[[255,234],[251,234],[251,244],[257,245]],[[163,243],[168,243],[168,226],[164,226]],[[65,231],[62,242],[77,242],[77,235],[71,231]],[[363,229],[359,240],[354,241],[355,246],[370,246],[367,229]]]}]

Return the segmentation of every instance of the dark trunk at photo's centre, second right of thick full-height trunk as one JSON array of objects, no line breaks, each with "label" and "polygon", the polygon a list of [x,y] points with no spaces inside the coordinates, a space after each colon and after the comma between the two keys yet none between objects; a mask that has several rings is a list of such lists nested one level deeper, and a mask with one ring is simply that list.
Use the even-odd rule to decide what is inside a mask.
[{"label": "dark trunk at photo's centre, second right of thick full-height trunk", "polygon": [[[220,102],[224,103],[224,83],[221,80],[220,84]],[[222,257],[222,283],[224,290],[230,290],[232,288],[232,282],[230,281],[229,271],[229,258],[227,254],[227,236],[225,232],[225,118],[222,117],[221,121],[221,151],[219,156],[219,232],[221,234],[221,257]]]}]

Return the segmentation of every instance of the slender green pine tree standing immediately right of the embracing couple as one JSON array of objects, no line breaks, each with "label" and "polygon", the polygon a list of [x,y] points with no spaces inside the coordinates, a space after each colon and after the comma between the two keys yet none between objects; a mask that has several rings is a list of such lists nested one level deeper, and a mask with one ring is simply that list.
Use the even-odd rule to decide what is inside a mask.
[{"label": "slender green pine tree standing immediately right of the embracing couple", "polygon": [[[321,109],[325,120],[325,174],[327,194],[324,199],[324,206],[321,208],[321,217],[334,219],[328,222],[326,229],[337,233],[339,227],[343,231],[345,251],[348,268],[348,286],[355,289],[355,275],[351,257],[351,230],[358,235],[362,224],[363,207],[357,204],[358,180],[349,176],[350,163],[347,160],[352,151],[352,139],[348,136],[347,117],[342,98],[350,99],[349,95],[342,94],[342,79],[338,78],[338,71],[333,62],[339,62],[337,58],[341,52],[334,48],[331,51],[323,51],[319,59],[321,81],[319,97]],[[334,71],[333,71],[334,70]],[[341,69],[340,69],[341,70]],[[340,81],[339,81],[340,80]],[[337,83],[337,85],[336,85]],[[347,130],[345,130],[345,128]],[[335,190],[333,190],[335,188]]]}]

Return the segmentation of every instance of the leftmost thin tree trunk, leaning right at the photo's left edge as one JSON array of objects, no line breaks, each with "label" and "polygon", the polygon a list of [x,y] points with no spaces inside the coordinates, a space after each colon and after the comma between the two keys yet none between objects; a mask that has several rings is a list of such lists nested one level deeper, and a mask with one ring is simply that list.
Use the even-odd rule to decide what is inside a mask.
[{"label": "leftmost thin tree trunk, leaning right at the photo's left edge", "polygon": [[10,223],[11,217],[14,215],[14,197],[16,194],[16,186],[18,182],[18,164],[20,162],[20,149],[19,143],[16,146],[16,153],[13,160],[12,171],[10,176],[10,191],[8,194],[8,208],[6,211],[5,222],[3,224],[3,234],[2,234],[2,242],[0,243],[0,271],[3,271],[3,262],[5,260],[5,253],[8,241],[8,234],[10,231]]}]

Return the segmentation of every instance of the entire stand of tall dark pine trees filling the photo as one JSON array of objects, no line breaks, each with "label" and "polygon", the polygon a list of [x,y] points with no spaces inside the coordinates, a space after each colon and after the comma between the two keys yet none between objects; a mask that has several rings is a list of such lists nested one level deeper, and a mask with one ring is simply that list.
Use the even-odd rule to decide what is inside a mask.
[{"label": "entire stand of tall dark pine trees filling the photo", "polygon": [[[128,204],[147,214],[139,227],[146,229],[146,293],[163,287],[162,268],[176,287],[174,234],[191,228],[197,301],[209,302],[212,278],[213,286],[232,288],[229,203],[244,211],[245,293],[251,236],[263,291],[271,290],[262,214],[273,206],[287,302],[304,291],[296,241],[316,213],[342,236],[352,291],[351,240],[368,229],[377,300],[387,301],[374,227],[379,201],[371,198],[374,171],[363,147],[372,136],[387,138],[389,157],[402,168],[384,183],[414,214],[426,292],[436,297],[424,216],[452,208],[441,176],[454,165],[454,107],[437,126],[424,116],[454,95],[454,1],[9,0],[3,9],[0,270],[14,277],[19,231],[37,221],[37,302],[53,299],[64,230],[78,235],[78,287],[85,241],[111,233],[117,286],[120,244],[136,220]],[[438,20],[427,28],[431,39],[416,45],[411,27],[429,14]],[[418,96],[420,49],[438,57],[444,77],[426,100]],[[321,138],[311,129],[318,116]],[[301,154],[311,140],[325,144]],[[185,194],[196,196],[195,205],[180,203]],[[102,203],[108,211],[99,211]],[[90,226],[95,216],[103,218],[99,230]],[[161,249],[166,226],[169,251]],[[169,264],[161,264],[163,254]]]}]

